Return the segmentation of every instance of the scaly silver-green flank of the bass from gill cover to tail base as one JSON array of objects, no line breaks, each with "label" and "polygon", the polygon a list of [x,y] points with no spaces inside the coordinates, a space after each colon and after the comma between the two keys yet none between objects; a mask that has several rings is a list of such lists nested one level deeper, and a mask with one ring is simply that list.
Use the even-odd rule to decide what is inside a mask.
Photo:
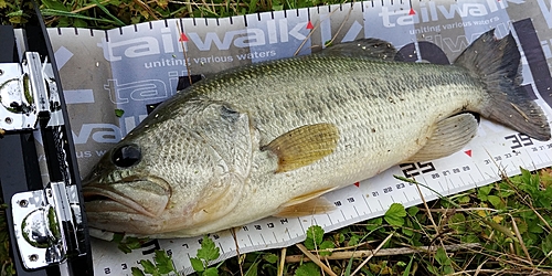
[{"label": "scaly silver-green flank of the bass from gill cover to tail base", "polygon": [[[400,74],[404,72],[404,64],[346,57],[318,59],[319,62],[308,64],[296,60],[280,61],[274,65],[272,72],[276,72],[278,67],[286,70],[266,78],[262,72],[257,73],[256,68],[253,68],[252,72],[245,73],[248,78],[234,78],[233,74],[229,74],[226,77],[233,78],[233,82],[205,82],[194,86],[195,93],[203,97],[247,110],[259,130],[262,144],[302,125],[332,123],[340,130],[340,141],[347,141],[349,145],[346,147],[344,142],[340,142],[333,155],[327,159],[284,174],[274,174],[274,162],[264,162],[264,166],[252,171],[250,183],[246,185],[250,190],[244,191],[241,203],[226,215],[227,220],[238,221],[242,216],[248,216],[252,205],[257,206],[254,209],[255,213],[270,215],[282,201],[308,193],[312,187],[343,187],[383,171],[395,164],[396,160],[404,160],[422,148],[431,125],[484,93],[481,85],[466,76],[464,70],[453,66],[443,72],[438,67],[408,64],[408,70],[416,74],[435,76],[427,77],[433,83],[422,77],[420,83],[415,83],[410,76]],[[335,64],[330,67],[331,71],[323,66],[327,63]],[[317,79],[317,85],[312,85],[310,75],[293,74],[307,67],[312,72],[322,71],[330,77]],[[396,91],[378,88],[383,84],[373,79],[381,79],[383,76],[396,83],[408,79],[410,85],[400,86]],[[288,84],[279,86],[277,93],[259,93],[274,87],[270,81],[287,78],[290,78]],[[256,84],[255,87],[247,85],[252,82]],[[347,83],[347,88],[338,85],[338,82]],[[450,86],[455,88],[450,89]],[[214,91],[214,87],[225,93],[201,93]],[[317,97],[305,96],[306,88],[309,88],[308,94],[316,92]],[[375,91],[380,92],[374,93]],[[185,95],[187,92],[181,93]],[[346,96],[341,96],[340,100],[335,100],[335,95],[343,94]],[[427,96],[422,98],[418,94]],[[390,98],[394,100],[391,103]],[[433,103],[433,110],[427,110],[428,99]],[[358,116],[358,120],[346,119],[346,116],[353,115]],[[372,128],[376,131],[372,132]],[[417,145],[413,145],[414,140],[417,140]],[[252,183],[256,183],[254,188]],[[201,230],[204,231],[212,230]]]}]

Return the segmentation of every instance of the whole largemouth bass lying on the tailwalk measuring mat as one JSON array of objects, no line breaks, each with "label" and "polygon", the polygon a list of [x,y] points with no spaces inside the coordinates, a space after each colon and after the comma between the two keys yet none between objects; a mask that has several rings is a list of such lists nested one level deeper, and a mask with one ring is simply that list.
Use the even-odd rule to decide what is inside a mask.
[{"label": "whole largemouth bass lying on the tailwalk measuring mat", "polygon": [[511,34],[482,34],[454,65],[399,57],[369,39],[179,92],[84,180],[91,227],[184,237],[327,212],[323,193],[461,149],[477,131],[474,113],[551,138],[544,113],[520,88]]}]

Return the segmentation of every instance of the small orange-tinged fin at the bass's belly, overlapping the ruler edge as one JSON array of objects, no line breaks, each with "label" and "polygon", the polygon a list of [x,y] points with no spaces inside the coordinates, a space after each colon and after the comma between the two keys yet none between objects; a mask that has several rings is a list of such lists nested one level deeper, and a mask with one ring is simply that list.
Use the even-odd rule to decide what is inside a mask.
[{"label": "small orange-tinged fin at the bass's belly, overlapping the ruler edge", "polygon": [[297,198],[291,199],[290,201],[280,205],[279,211],[274,216],[278,217],[293,217],[293,216],[304,216],[304,215],[312,215],[312,214],[322,214],[327,213],[336,206],[329,202],[325,198],[320,198],[320,195],[335,190],[336,188],[318,190],[315,192],[310,192]]}]

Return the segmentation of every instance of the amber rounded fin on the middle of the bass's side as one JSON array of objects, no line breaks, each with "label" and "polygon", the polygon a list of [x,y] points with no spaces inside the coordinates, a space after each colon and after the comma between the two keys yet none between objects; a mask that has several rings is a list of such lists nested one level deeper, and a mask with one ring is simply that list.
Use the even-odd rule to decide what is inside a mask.
[{"label": "amber rounded fin on the middle of the bass's side", "polygon": [[278,173],[305,167],[329,156],[336,150],[338,140],[339,130],[335,125],[308,125],[279,136],[261,150],[270,150],[278,157]]}]

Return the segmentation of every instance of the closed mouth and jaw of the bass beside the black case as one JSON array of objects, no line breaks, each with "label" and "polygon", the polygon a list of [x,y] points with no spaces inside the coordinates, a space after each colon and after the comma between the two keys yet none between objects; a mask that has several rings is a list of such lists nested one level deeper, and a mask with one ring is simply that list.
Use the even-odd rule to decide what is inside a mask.
[{"label": "closed mouth and jaw of the bass beside the black case", "polygon": [[113,183],[83,187],[86,212],[159,216],[171,195],[170,187],[157,178],[125,178]]}]

